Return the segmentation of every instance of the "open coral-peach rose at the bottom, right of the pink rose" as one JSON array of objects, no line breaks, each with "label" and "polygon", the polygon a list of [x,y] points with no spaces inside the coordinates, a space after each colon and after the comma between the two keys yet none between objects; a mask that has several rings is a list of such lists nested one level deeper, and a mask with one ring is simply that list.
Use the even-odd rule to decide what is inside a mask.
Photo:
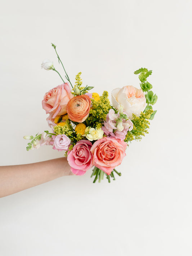
[{"label": "open coral-peach rose at the bottom, right of the pink rose", "polygon": [[97,140],[90,149],[93,154],[93,165],[110,175],[126,156],[126,147],[124,141],[115,138],[104,137]]}]

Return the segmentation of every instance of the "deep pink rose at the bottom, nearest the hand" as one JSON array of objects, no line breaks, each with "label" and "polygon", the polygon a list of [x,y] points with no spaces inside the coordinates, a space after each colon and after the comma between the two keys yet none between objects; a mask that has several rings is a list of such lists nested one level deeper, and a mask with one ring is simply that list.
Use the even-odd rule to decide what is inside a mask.
[{"label": "deep pink rose at the bottom, nearest the hand", "polygon": [[67,160],[71,166],[71,172],[83,175],[91,168],[93,155],[90,152],[92,143],[89,140],[78,141],[71,151],[68,151]]}]

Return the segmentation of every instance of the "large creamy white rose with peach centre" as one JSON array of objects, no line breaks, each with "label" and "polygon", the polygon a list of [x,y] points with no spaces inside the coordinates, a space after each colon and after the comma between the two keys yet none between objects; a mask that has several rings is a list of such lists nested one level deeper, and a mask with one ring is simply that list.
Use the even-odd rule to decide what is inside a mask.
[{"label": "large creamy white rose with peach centre", "polygon": [[143,112],[147,105],[143,91],[134,86],[124,86],[112,90],[112,104],[116,109],[122,105],[129,119],[132,119],[132,114],[140,116],[140,112]]}]

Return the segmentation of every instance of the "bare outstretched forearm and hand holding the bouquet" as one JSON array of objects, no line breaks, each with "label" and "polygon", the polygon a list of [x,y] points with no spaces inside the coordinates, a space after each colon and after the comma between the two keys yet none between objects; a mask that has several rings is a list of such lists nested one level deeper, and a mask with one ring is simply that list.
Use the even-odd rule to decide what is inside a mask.
[{"label": "bare outstretched forearm and hand holding the bouquet", "polygon": [[66,175],[73,175],[66,157],[34,164],[0,166],[0,198]]}]

